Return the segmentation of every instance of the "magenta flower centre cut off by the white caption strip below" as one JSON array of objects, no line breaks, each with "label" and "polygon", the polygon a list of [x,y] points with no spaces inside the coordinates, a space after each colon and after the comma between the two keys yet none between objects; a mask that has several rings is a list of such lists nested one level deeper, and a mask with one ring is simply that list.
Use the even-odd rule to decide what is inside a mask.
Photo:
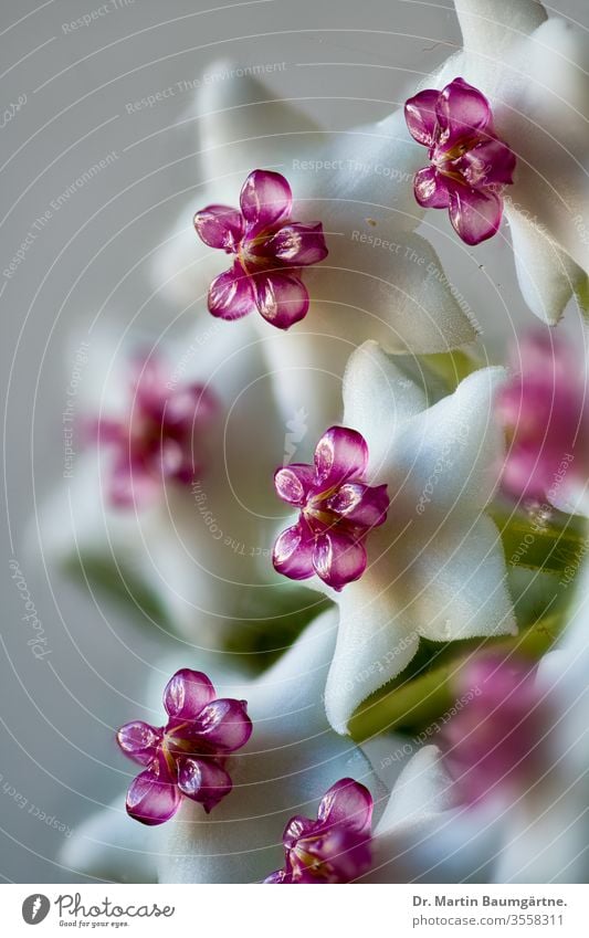
[{"label": "magenta flower centre cut off by the white caption strip below", "polygon": [[282,841],[284,867],[265,883],[350,883],[370,866],[372,795],[339,779],[319,801],[316,820],[291,818]]}]

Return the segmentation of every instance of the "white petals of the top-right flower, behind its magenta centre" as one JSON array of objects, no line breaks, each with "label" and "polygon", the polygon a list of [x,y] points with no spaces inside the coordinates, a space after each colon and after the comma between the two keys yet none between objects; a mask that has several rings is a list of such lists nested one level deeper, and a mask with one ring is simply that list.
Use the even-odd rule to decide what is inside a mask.
[{"label": "white petals of the top-right flower, behind its magenta centre", "polygon": [[[586,34],[548,19],[537,0],[455,0],[455,9],[464,49],[422,87],[443,94],[460,75],[488,102],[493,134],[517,159],[503,199],[522,293],[554,325],[574,294],[589,308]],[[506,151],[488,146],[507,176]]]}]

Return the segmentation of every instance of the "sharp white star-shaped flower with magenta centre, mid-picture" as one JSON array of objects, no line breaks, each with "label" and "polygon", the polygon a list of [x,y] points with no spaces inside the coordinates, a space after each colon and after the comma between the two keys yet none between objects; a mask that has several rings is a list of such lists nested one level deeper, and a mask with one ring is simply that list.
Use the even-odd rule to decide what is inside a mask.
[{"label": "sharp white star-shaped flower with magenta centre, mid-picture", "polygon": [[[334,498],[340,506],[351,504],[353,512],[356,500],[365,523],[379,524],[364,545],[364,552],[359,557],[357,547],[343,552],[341,565],[346,554],[353,557],[351,571],[359,579],[340,591],[319,576],[306,580],[339,610],[325,700],[340,733],[362,700],[407,667],[420,637],[448,642],[515,631],[499,535],[485,514],[503,455],[493,399],[504,377],[501,368],[475,371],[453,394],[428,407],[423,389],[375,342],[350,357],[343,424],[356,431],[351,440],[357,447],[336,450],[330,438],[326,463],[333,463],[334,485],[343,476],[345,482],[345,472],[361,470],[367,487],[349,496],[336,489]],[[286,491],[294,496],[304,476],[290,478]],[[390,502],[386,519],[385,485]],[[366,506],[358,500],[365,492]],[[303,495],[301,500],[305,504]],[[308,572],[308,541],[288,535],[284,551],[278,540],[277,552],[291,571]],[[328,569],[329,559],[340,586],[336,551],[326,560],[319,556],[319,570]]]}]

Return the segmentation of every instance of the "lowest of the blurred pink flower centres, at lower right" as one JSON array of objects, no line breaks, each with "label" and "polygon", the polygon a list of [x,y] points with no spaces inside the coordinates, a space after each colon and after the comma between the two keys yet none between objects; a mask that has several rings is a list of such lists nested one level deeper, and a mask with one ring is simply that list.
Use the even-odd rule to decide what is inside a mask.
[{"label": "lowest of the blurred pink flower centres, at lower right", "polygon": [[444,724],[440,744],[460,800],[508,802],[541,773],[549,714],[541,706],[535,670],[517,657],[480,656],[461,673],[461,692],[475,695]]}]

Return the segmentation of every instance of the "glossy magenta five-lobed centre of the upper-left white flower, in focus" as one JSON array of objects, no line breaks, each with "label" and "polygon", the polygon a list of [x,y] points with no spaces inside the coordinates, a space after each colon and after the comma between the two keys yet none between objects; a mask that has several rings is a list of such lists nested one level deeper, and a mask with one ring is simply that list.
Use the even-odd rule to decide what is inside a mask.
[{"label": "glossy magenta five-lobed centre of the upper-left white flower, in focus", "polygon": [[208,205],[194,215],[199,238],[234,254],[231,270],[209,287],[209,310],[240,319],[257,310],[278,329],[303,319],[308,293],[301,267],[327,256],[320,222],[292,219],[293,193],[280,172],[255,169],[243,183],[240,210]]}]

